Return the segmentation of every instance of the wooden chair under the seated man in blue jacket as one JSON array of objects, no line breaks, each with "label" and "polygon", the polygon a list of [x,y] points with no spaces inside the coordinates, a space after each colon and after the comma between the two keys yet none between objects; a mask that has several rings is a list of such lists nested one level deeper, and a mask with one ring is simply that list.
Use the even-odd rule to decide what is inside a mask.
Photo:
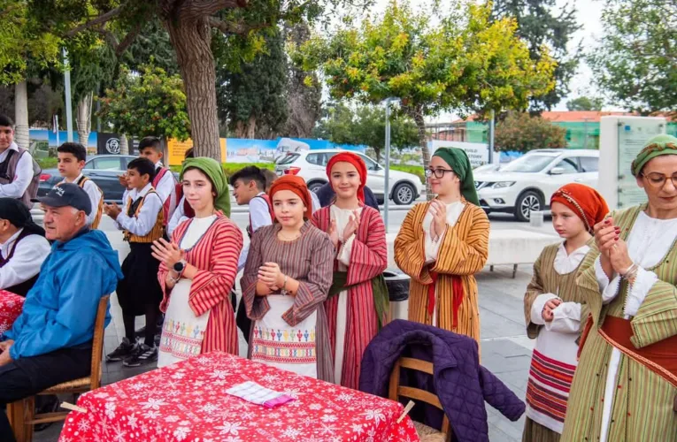
[{"label": "wooden chair under the seated man in blue jacket", "polygon": [[[106,295],[99,301],[96,309],[96,321],[94,323],[94,338],[92,339],[92,365],[88,377],[81,377],[73,381],[54,385],[38,395],[48,394],[77,394],[96,390],[101,386],[101,359],[104,353],[104,324],[106,307],[110,295]],[[12,424],[12,430],[17,442],[31,442],[33,440],[33,426],[38,423],[52,423],[65,420],[68,411],[54,413],[35,414],[35,396],[24,400],[17,400],[7,404],[7,417]]]}]

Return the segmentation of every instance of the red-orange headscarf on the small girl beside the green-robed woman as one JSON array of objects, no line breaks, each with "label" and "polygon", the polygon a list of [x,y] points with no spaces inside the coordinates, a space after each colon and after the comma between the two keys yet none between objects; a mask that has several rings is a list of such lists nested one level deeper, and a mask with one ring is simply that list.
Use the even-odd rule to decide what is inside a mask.
[{"label": "red-orange headscarf on the small girl beside the green-robed woman", "polygon": [[559,187],[558,191],[552,194],[552,198],[550,198],[550,206],[553,202],[561,202],[573,210],[573,213],[583,220],[590,233],[592,233],[593,227],[602,222],[609,213],[609,207],[601,194],[592,187],[578,183]]}]

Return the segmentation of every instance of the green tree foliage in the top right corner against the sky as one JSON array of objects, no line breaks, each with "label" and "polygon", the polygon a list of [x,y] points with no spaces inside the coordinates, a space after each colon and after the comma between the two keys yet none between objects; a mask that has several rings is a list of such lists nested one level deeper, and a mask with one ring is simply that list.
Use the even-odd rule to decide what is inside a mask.
[{"label": "green tree foliage in the top right corner against the sky", "polygon": [[677,109],[677,3],[607,0],[589,56],[611,102],[642,113]]}]

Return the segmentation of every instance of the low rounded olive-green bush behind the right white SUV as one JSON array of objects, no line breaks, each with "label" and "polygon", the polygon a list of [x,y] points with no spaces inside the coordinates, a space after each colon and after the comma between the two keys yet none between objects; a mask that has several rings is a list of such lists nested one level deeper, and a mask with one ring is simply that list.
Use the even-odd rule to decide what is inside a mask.
[{"label": "low rounded olive-green bush behind the right white SUV", "polygon": [[496,125],[496,150],[565,148],[566,129],[526,112],[510,112]]}]

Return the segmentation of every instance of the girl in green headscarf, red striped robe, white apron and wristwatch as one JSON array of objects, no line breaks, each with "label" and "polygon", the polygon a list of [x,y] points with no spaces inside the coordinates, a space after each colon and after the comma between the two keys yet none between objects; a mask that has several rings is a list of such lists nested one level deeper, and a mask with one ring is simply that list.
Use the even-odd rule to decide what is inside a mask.
[{"label": "girl in green headscarf, red striped robe, white apron and wristwatch", "polygon": [[195,217],[173,231],[172,242],[153,244],[165,312],[158,367],[204,352],[238,354],[230,292],[242,232],[223,213],[230,207],[227,179],[217,161],[199,157],[184,162],[181,182]]}]

